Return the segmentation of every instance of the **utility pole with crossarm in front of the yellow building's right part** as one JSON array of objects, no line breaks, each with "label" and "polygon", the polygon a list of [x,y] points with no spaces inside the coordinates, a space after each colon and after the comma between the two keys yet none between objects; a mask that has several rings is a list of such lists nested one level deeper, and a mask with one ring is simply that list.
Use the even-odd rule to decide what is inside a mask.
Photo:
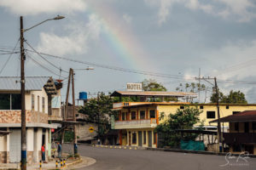
[{"label": "utility pole with crossarm in front of the yellow building's right part", "polygon": [[217,78],[214,77],[214,78],[210,78],[210,77],[195,77],[195,80],[199,80],[199,79],[202,79],[206,82],[209,82],[208,80],[214,80],[214,84],[212,84],[212,82],[209,82],[210,84],[212,84],[212,86],[214,87],[215,89],[215,94],[216,94],[216,106],[217,106],[217,114],[218,114],[218,127],[217,127],[217,130],[218,130],[218,144],[219,144],[219,152],[222,152],[223,151],[223,140],[222,140],[222,137],[221,137],[221,127],[220,127],[220,116],[219,116],[219,105],[218,105],[218,85],[217,85]]}]

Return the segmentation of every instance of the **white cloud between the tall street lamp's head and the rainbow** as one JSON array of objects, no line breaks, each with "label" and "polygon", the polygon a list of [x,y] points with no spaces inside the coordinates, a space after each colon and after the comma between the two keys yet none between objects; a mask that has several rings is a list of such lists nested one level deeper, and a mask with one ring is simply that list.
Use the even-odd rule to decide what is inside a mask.
[{"label": "white cloud between the tall street lamp's head and the rainbow", "polygon": [[49,54],[84,54],[89,49],[89,41],[97,40],[102,25],[100,19],[95,14],[90,14],[89,22],[72,23],[67,26],[70,31],[68,36],[57,36],[54,33],[40,33],[38,51]]}]

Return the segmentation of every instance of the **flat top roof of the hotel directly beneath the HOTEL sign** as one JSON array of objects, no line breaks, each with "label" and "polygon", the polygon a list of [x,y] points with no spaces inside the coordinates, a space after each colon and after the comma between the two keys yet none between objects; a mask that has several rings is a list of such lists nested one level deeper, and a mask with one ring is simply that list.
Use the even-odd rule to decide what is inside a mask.
[{"label": "flat top roof of the hotel directly beneath the HOTEL sign", "polygon": [[114,91],[110,96],[155,96],[155,97],[196,97],[197,94],[190,92],[162,92],[162,91]]}]

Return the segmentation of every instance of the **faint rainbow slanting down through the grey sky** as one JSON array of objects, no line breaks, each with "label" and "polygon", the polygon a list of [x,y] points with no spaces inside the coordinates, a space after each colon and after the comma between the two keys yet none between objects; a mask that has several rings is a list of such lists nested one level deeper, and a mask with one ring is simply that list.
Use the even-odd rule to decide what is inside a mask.
[{"label": "faint rainbow slanting down through the grey sky", "polygon": [[[113,12],[115,9],[104,3],[90,6],[89,11],[90,14],[96,14],[101,19],[102,28],[104,29],[103,36],[119,60],[134,70],[142,70],[141,68],[145,63],[148,68],[154,68],[148,62],[150,55],[143,50],[143,46],[134,36],[129,26],[125,25],[123,19]],[[108,18],[105,16],[108,16]],[[143,77],[143,75],[140,77]]]}]

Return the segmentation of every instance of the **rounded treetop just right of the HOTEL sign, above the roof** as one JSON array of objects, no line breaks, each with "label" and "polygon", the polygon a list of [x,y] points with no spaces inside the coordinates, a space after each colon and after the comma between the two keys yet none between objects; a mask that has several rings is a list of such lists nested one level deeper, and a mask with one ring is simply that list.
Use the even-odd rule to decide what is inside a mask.
[{"label": "rounded treetop just right of the HOTEL sign, above the roof", "polygon": [[154,79],[144,79],[142,83],[144,91],[167,91],[161,83],[156,82]]}]

